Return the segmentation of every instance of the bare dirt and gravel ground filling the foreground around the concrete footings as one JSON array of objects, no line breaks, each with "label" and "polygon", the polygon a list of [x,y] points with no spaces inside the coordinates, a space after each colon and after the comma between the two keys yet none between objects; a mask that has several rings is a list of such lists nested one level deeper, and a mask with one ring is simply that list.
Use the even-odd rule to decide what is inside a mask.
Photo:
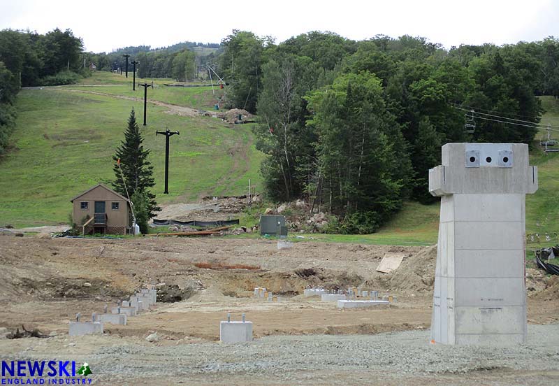
[{"label": "bare dirt and gravel ground filling the foreground around the concrete footings", "polygon": [[[375,271],[386,252],[406,255],[389,275]],[[435,347],[428,344],[435,256],[433,247],[312,242],[277,250],[266,239],[0,236],[0,327],[24,324],[53,335],[3,339],[0,352],[6,359],[87,361],[101,385],[556,385],[558,280],[528,270],[528,345]],[[201,269],[201,263],[254,269]],[[67,335],[75,313],[99,313],[158,283],[193,296],[158,303],[127,326],[106,324],[103,336]],[[398,303],[342,311],[305,299],[307,285],[361,285],[398,296]],[[253,299],[254,287],[282,301]],[[256,340],[217,342],[226,313],[235,320],[245,313]],[[154,331],[159,341],[145,341]]]}]

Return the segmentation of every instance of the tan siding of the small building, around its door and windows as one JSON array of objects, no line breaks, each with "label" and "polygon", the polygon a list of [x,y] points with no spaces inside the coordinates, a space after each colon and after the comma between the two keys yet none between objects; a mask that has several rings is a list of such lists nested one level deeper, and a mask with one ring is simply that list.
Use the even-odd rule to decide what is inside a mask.
[{"label": "tan siding of the small building, around its door and windows", "polygon": [[[87,209],[81,208],[81,203],[87,201]],[[129,227],[129,207],[122,198],[109,192],[103,187],[96,187],[94,190],[78,197],[73,203],[73,220],[78,226],[83,224],[83,218],[87,215],[93,217],[95,211],[95,201],[105,201],[105,213],[107,213],[108,227]],[[119,203],[118,210],[112,210],[111,204]]]}]

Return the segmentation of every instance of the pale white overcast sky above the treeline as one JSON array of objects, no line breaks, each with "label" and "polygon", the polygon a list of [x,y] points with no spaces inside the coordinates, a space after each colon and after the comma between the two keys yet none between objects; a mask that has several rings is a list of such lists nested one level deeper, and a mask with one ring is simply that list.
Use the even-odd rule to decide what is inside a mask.
[{"label": "pale white overcast sky above the treeline", "polygon": [[270,35],[277,43],[307,31],[333,31],[356,40],[423,36],[446,48],[502,45],[559,37],[558,20],[557,0],[0,0],[0,29],[71,29],[93,52],[219,43],[233,29]]}]

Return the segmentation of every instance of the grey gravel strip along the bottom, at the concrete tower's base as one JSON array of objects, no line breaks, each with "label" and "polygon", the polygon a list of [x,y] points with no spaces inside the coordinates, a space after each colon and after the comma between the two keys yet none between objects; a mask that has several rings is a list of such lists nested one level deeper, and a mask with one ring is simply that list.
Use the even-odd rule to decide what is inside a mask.
[{"label": "grey gravel strip along the bottom, at the concrete tower's base", "polygon": [[[252,343],[178,345],[131,343],[104,336],[96,338],[94,348],[88,347],[92,338],[29,339],[29,343],[41,342],[8,355],[8,359],[41,358],[41,354],[59,345],[59,350],[51,352],[62,358],[87,361],[99,385],[559,383],[559,324],[530,325],[528,344],[499,348],[431,345],[429,331],[268,336]],[[1,351],[5,349],[0,345]]]}]

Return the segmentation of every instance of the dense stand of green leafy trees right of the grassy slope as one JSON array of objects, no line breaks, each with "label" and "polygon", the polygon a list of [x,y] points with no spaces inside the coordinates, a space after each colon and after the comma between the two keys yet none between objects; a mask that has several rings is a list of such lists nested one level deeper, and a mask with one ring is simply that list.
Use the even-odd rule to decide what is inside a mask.
[{"label": "dense stand of green leafy trees right of the grassy slope", "polygon": [[338,232],[369,233],[403,200],[432,201],[428,169],[444,143],[531,143],[537,132],[477,119],[468,133],[468,110],[537,124],[537,95],[559,96],[553,37],[445,50],[411,36],[310,32],[275,44],[233,31],[222,45],[228,103],[258,115],[266,192],[326,208]]}]

